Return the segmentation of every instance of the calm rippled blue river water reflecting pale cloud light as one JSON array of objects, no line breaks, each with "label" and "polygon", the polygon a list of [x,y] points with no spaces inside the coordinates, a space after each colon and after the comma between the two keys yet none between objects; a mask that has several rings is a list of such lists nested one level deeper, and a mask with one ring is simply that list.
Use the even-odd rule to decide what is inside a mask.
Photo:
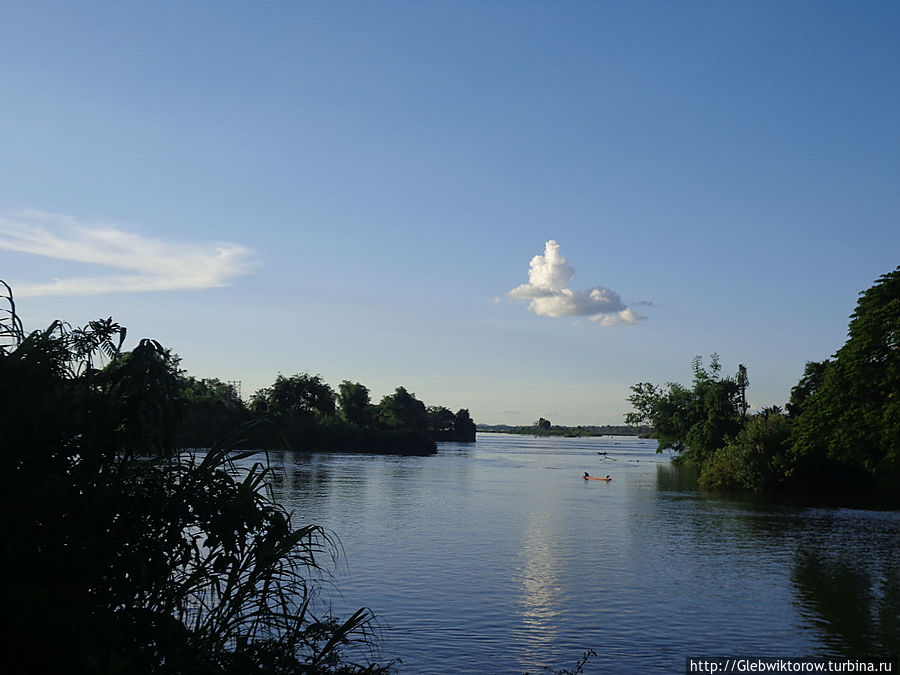
[{"label": "calm rippled blue river water reflecting pale cloud light", "polygon": [[898,653],[900,512],[701,494],[655,447],[479,434],[272,461],[296,524],[341,541],[335,611],[372,608],[402,673],[571,668],[586,649],[588,673]]}]

